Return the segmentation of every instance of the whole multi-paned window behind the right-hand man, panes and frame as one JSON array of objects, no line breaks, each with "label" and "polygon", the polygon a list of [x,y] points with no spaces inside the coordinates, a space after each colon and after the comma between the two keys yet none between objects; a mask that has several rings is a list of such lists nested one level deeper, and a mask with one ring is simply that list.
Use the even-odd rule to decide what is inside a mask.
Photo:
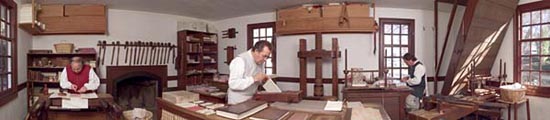
[{"label": "whole multi-paned window behind the right-hand man, panes and frame", "polygon": [[399,79],[408,74],[403,62],[405,53],[414,53],[414,20],[380,18],[380,70],[387,70],[388,78]]}]

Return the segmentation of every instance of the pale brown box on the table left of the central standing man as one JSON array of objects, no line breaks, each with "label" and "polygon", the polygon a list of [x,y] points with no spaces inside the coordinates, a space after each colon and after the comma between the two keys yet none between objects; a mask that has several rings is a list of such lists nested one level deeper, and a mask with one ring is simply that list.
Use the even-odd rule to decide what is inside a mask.
[{"label": "pale brown box on the table left of the central standing man", "polygon": [[199,94],[188,92],[185,90],[181,91],[170,91],[170,92],[163,92],[162,93],[162,99],[172,102],[174,104],[182,103],[182,102],[190,102],[190,101],[196,101],[199,100]]}]

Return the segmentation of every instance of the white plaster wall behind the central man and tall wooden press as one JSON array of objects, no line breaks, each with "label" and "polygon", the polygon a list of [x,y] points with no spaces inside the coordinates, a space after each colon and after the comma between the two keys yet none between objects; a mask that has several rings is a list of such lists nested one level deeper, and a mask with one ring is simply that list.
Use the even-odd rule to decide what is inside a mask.
[{"label": "white plaster wall behind the central man and tall wooden press", "polygon": [[[458,9],[457,16],[454,21],[450,40],[447,47],[447,53],[452,51],[454,46],[454,40],[458,32],[458,23],[462,19],[462,13],[464,9],[460,7]],[[434,76],[434,24],[433,24],[433,11],[428,10],[416,10],[416,9],[399,9],[399,8],[376,8],[376,19],[378,18],[404,18],[415,20],[415,53],[417,57],[423,61],[427,67],[428,76]],[[447,28],[447,21],[449,19],[449,13],[439,12],[439,49],[442,49],[445,31]],[[215,21],[217,29],[224,30],[228,28],[235,28],[239,32],[236,38],[226,39],[220,38],[218,58],[220,61],[226,61],[226,52],[221,48],[227,46],[236,46],[236,53],[246,51],[246,30],[248,24],[273,22],[275,21],[275,12],[256,14],[250,16],[242,16],[236,18],[230,18],[220,21]],[[221,34],[221,33],[218,33]],[[378,69],[379,47],[377,46],[377,52],[373,54],[374,43],[373,34],[323,34],[323,48],[331,48],[331,39],[338,38],[338,44],[340,50],[343,52],[348,49],[349,67],[360,67],[364,69]],[[314,48],[314,35],[292,35],[292,36],[278,36],[277,37],[277,74],[284,77],[298,77],[299,76],[299,59],[296,57],[298,51],[299,39],[306,39],[307,48]],[[378,37],[379,38],[379,37]],[[379,41],[377,41],[379,42]],[[441,51],[441,50],[439,50]],[[440,52],[441,53],[441,52]],[[450,54],[445,55],[443,62],[442,72],[440,75],[445,75],[447,70]],[[339,71],[344,69],[344,59],[340,59]],[[221,73],[229,73],[228,65],[225,63],[218,64],[218,68]],[[314,63],[308,62],[308,77],[314,77]],[[339,77],[343,78],[343,73],[339,72]],[[330,60],[326,60],[323,66],[323,77],[330,78],[332,76]],[[297,83],[279,83],[282,89],[298,89]],[[430,84],[433,86],[433,84]],[[441,88],[442,85],[438,89]],[[325,89],[325,94],[330,95],[330,85],[325,85],[329,89]],[[433,88],[433,87],[430,87]],[[312,87],[308,87],[312,89]],[[308,90],[312,91],[312,90]],[[438,90],[439,91],[439,90]],[[308,93],[311,94],[311,93]]]}]

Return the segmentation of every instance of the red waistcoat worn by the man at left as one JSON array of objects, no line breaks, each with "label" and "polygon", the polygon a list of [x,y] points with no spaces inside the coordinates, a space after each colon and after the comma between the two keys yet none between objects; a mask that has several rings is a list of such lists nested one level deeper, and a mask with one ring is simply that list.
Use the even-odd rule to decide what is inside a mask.
[{"label": "red waistcoat worn by the man at left", "polygon": [[83,65],[82,70],[80,72],[74,72],[71,68],[71,65],[67,65],[67,79],[69,79],[69,82],[77,86],[77,90],[82,88],[84,84],[88,83],[90,81],[90,70],[91,67],[89,65]]}]

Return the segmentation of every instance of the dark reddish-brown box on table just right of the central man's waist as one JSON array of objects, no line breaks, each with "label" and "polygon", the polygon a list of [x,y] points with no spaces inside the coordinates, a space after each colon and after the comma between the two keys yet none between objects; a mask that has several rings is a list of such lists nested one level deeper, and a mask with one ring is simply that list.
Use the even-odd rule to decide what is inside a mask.
[{"label": "dark reddish-brown box on table just right of the central man's waist", "polygon": [[291,102],[297,103],[302,100],[302,91],[283,91],[282,93],[258,92],[254,94],[255,100],[267,102]]}]

